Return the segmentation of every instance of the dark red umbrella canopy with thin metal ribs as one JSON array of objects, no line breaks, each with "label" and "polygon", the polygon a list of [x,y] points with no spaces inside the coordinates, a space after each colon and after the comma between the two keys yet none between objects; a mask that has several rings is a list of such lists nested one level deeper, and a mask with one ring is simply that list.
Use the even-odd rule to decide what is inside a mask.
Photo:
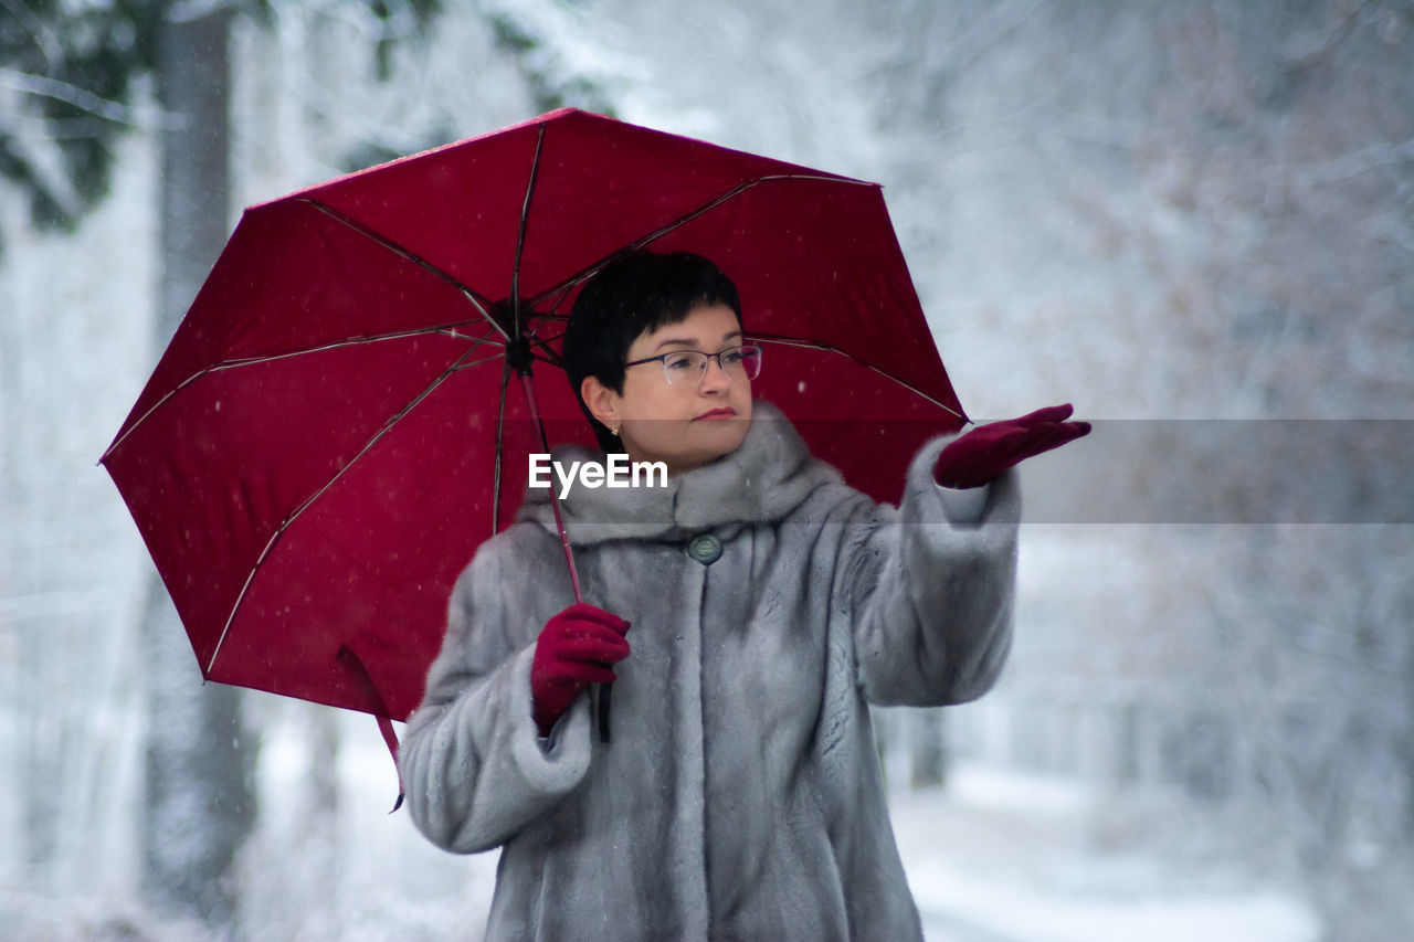
[{"label": "dark red umbrella canopy with thin metal ribs", "polygon": [[580,284],[690,250],[738,286],[754,393],[896,501],[964,421],[877,184],[577,110],[247,209],[103,455],[216,682],[406,719],[477,546],[550,441]]}]

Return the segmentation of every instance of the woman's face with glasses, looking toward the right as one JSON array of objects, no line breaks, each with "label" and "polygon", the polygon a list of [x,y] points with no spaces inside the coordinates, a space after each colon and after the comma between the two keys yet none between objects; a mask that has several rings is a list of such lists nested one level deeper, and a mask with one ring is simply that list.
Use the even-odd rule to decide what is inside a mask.
[{"label": "woman's face with glasses, looking toward the right", "polygon": [[[639,334],[625,362],[701,351],[718,354],[742,344],[737,315],[725,304],[694,307],[680,324]],[[581,388],[590,412],[609,429],[618,427],[632,461],[662,461],[680,474],[735,451],[751,427],[751,380],[728,376],[717,359],[707,361],[701,382],[669,385],[662,361],[624,371],[617,393],[590,376]]]}]

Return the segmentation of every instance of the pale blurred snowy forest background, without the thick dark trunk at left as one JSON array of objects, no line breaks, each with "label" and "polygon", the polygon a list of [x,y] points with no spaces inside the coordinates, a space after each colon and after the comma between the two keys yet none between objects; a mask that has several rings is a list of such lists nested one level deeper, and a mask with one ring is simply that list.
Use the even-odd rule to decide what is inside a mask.
[{"label": "pale blurred snowy forest background, without the thick dark trunk at left", "polygon": [[[379,81],[373,40],[399,28],[332,0],[235,21],[236,205],[560,103],[878,180],[967,410],[1072,400],[1110,420],[1069,464],[1028,468],[1032,492],[1063,471],[1093,511],[1198,482],[1203,513],[1141,522],[1041,501],[1065,522],[1025,529],[1000,687],[880,714],[930,939],[1414,934],[1414,515],[1391,496],[1414,420],[1414,4],[447,0]],[[208,934],[141,892],[150,563],[96,465],[158,354],[161,116],[139,99],[113,190],[72,233],[0,190],[17,939]],[[1316,438],[1366,421],[1403,463],[1233,479],[1195,457],[1205,420]],[[1114,429],[1154,434],[1117,477]],[[1365,504],[1247,513],[1316,477]],[[236,936],[479,935],[493,857],[441,854],[386,813],[368,717],[264,694],[245,711]]]}]

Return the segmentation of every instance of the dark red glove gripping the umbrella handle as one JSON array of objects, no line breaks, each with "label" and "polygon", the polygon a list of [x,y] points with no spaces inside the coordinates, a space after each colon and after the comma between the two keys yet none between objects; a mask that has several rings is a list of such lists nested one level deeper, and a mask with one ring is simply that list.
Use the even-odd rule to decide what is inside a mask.
[{"label": "dark red glove gripping the umbrella handle", "polygon": [[530,665],[534,724],[549,735],[590,683],[612,683],[609,665],[628,656],[628,622],[602,608],[577,603],[544,622]]}]

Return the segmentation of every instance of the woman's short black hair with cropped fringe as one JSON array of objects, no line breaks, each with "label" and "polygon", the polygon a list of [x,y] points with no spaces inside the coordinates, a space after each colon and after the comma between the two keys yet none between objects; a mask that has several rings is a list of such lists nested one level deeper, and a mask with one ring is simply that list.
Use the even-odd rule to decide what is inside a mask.
[{"label": "woman's short black hair with cropped fringe", "polygon": [[594,376],[614,392],[624,392],[624,361],[641,334],[667,324],[682,324],[693,308],[725,304],[741,324],[737,286],[721,269],[700,255],[628,252],[600,269],[580,290],[564,331],[561,359],[580,407],[584,409],[604,451],[622,451],[584,405],[580,386]]}]

